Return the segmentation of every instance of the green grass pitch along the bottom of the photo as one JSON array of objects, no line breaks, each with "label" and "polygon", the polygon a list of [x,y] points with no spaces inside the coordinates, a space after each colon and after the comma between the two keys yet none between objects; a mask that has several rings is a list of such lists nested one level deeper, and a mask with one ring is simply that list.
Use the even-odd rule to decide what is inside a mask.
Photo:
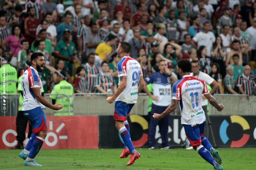
[{"label": "green grass pitch along the bottom of the photo", "polygon": [[[224,170],[255,170],[256,148],[218,148]],[[122,149],[41,150],[35,160],[43,167],[25,167],[18,156],[22,150],[0,150],[0,170],[213,170],[195,150],[137,151],[141,157],[131,166],[129,158],[120,159]]]}]

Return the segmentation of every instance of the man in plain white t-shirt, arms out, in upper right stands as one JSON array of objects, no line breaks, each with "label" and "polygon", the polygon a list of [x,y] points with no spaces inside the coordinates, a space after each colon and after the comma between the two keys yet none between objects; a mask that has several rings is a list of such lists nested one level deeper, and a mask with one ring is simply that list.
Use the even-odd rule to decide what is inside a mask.
[{"label": "man in plain white t-shirt, arms out, in upper right stands", "polygon": [[215,42],[215,35],[209,31],[210,23],[209,22],[204,22],[204,27],[203,31],[197,33],[193,37],[193,41],[191,41],[191,44],[196,46],[195,42],[197,42],[197,47],[200,46],[206,46],[207,47],[207,55],[211,55],[211,49],[212,49],[212,44]]}]

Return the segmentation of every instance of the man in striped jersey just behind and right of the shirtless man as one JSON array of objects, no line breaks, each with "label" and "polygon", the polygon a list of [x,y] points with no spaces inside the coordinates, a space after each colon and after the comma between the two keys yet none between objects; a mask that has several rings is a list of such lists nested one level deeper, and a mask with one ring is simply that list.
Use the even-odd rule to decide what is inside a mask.
[{"label": "man in striped jersey just behind and right of the shirtless man", "polygon": [[234,27],[233,28],[233,36],[231,37],[232,41],[235,39],[239,40],[240,47],[246,48],[243,53],[243,64],[248,64],[249,63],[249,52],[252,51],[252,47],[250,42],[245,39],[244,37],[241,36],[240,28],[239,27]]}]

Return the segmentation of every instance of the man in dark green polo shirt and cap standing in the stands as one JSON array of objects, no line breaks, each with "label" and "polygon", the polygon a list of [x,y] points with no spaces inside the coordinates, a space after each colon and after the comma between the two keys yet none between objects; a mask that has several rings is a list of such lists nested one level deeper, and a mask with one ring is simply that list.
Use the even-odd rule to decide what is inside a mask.
[{"label": "man in dark green polo shirt and cap standing in the stands", "polygon": [[61,58],[65,62],[65,68],[70,75],[75,75],[74,59],[77,53],[75,44],[70,40],[70,31],[63,31],[63,39],[60,40],[55,49],[55,57]]}]

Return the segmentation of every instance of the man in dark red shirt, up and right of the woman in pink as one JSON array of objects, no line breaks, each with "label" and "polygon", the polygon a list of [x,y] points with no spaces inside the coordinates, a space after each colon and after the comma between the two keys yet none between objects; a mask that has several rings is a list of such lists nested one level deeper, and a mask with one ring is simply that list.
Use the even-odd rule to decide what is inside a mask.
[{"label": "man in dark red shirt, up and right of the woman in pink", "polygon": [[33,41],[37,38],[35,33],[37,32],[37,27],[39,24],[39,19],[35,17],[35,8],[28,8],[28,17],[24,20],[24,37],[29,42],[29,49],[31,48],[31,44],[33,43]]}]

